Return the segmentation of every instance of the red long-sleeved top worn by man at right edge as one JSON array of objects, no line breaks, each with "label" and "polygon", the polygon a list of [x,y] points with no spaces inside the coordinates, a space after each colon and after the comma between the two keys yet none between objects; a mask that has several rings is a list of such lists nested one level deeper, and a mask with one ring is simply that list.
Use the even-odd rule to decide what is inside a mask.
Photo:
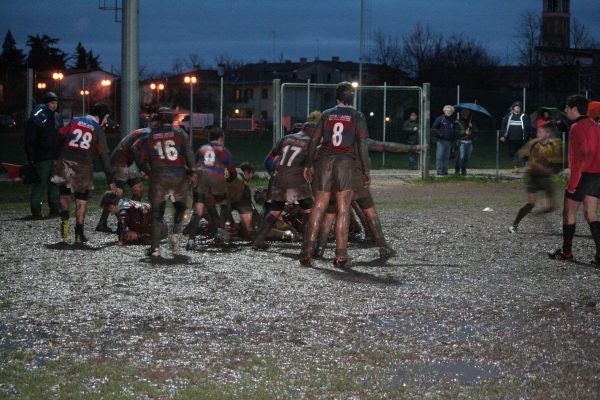
[{"label": "red long-sleeved top worn by man at right edge", "polygon": [[587,117],[578,119],[569,131],[569,167],[567,191],[571,193],[582,173],[600,173],[600,126]]}]

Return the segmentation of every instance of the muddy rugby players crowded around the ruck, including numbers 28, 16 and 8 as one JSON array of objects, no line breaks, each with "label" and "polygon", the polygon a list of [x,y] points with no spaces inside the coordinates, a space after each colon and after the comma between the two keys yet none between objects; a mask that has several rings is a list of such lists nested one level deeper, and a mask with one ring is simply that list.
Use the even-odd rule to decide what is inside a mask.
[{"label": "muddy rugby players crowded around the ruck, including numbers 28, 16 and 8", "polygon": [[[220,128],[211,128],[208,142],[194,154],[189,136],[155,114],[147,128],[124,137],[109,156],[101,128],[109,110],[97,104],[90,115],[60,129],[64,145],[53,181],[60,191],[62,240],[70,240],[74,197],[74,243],[87,242],[84,222],[97,153],[110,191],[102,196],[96,230],[116,233],[118,245],[149,245],[148,257],[161,257],[164,239],[173,254],[180,254],[200,249],[199,236],[204,244],[218,246],[228,246],[238,236],[256,251],[266,249],[271,240],[302,241],[300,265],[311,266],[335,238],[334,266],[349,268],[349,232],[356,236],[362,225],[380,258],[388,259],[395,250],[385,239],[369,190],[368,152],[420,152],[421,146],[369,139],[364,115],[352,107],[353,96],[352,85],[341,82],[335,107],[312,112],[279,140],[265,159],[268,188],[257,189],[254,202],[249,187],[254,167],[242,163],[238,171]],[[149,202],[142,201],[143,178],[149,184]],[[124,196],[126,185],[130,198]],[[170,229],[164,222],[167,201],[174,209]],[[260,212],[254,203],[262,206]],[[108,226],[111,214],[117,219],[116,232]]]}]

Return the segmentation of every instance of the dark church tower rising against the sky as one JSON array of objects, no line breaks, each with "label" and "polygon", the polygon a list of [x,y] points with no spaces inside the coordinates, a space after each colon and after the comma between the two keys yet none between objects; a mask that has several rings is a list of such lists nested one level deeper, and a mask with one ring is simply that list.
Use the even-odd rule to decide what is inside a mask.
[{"label": "dark church tower rising against the sky", "polygon": [[542,46],[569,48],[571,0],[542,0]]}]

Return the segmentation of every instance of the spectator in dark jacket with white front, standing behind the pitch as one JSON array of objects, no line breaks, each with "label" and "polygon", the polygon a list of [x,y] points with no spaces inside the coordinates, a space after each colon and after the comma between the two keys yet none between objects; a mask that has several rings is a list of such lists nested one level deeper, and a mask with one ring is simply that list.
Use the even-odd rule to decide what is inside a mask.
[{"label": "spectator in dark jacket with white front, standing behind the pitch", "polygon": [[508,155],[513,160],[513,173],[519,173],[521,160],[517,152],[529,140],[531,121],[529,116],[521,112],[521,103],[515,101],[510,106],[510,112],[502,119],[500,140],[508,143]]}]

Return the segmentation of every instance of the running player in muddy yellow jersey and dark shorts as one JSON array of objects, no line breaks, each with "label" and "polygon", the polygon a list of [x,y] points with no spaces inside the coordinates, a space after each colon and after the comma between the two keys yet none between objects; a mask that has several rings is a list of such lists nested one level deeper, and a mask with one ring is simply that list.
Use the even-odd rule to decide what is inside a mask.
[{"label": "running player in muddy yellow jersey and dark shorts", "polygon": [[544,192],[546,204],[542,212],[554,210],[554,185],[552,175],[558,173],[562,167],[562,144],[553,135],[558,131],[555,122],[547,122],[537,130],[537,138],[531,139],[518,152],[518,156],[527,159],[525,170],[525,185],[527,203],[521,207],[512,225],[508,228],[511,233],[517,233],[519,222],[533,210],[535,194]]}]

